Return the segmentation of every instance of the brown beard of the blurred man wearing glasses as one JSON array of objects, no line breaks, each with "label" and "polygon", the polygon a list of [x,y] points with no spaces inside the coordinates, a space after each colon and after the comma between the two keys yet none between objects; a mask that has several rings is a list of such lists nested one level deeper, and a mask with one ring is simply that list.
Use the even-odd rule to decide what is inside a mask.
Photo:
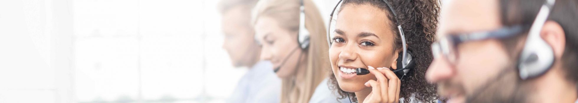
[{"label": "brown beard of the blurred man wearing glasses", "polygon": [[527,102],[531,89],[528,82],[518,77],[516,66],[509,66],[466,94],[466,102]]}]

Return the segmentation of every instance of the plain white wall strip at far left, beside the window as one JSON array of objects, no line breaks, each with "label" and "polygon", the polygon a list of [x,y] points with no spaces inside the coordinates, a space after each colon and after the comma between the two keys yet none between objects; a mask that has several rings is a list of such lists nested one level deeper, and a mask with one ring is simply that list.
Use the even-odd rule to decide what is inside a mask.
[{"label": "plain white wall strip at far left, beside the window", "polygon": [[72,102],[71,4],[0,1],[0,102]]}]

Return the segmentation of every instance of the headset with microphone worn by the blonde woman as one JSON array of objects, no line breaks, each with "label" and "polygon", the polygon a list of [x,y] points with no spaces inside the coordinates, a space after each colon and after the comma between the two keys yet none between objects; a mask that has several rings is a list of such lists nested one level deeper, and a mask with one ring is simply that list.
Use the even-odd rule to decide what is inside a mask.
[{"label": "headset with microphone worn by the blonde woman", "polygon": [[[301,0],[299,2],[301,4],[301,6],[299,6],[299,32],[297,33],[297,43],[299,43],[299,47],[301,48],[301,51],[305,51],[307,48],[309,48],[309,30],[307,30],[305,28],[305,6],[303,5],[303,0]],[[279,69],[281,69],[281,67],[283,67],[283,65],[285,65],[285,62],[287,62],[287,59],[293,55],[293,53],[295,53],[295,51],[297,51],[298,48],[293,49],[289,55],[285,56],[285,58],[283,59],[283,62],[281,62],[281,64],[279,65],[279,67],[276,67],[275,69],[273,69],[274,73],[277,73],[277,71],[279,71]],[[301,60],[301,56],[299,56],[299,60]]]}]

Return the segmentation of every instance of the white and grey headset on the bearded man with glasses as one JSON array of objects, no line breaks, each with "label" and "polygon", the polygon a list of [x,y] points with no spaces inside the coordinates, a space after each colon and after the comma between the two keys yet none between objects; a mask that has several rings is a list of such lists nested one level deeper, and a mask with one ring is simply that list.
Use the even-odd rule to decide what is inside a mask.
[{"label": "white and grey headset on the bearded man with glasses", "polygon": [[554,63],[552,47],[540,37],[540,31],[554,7],[554,2],[555,0],[544,2],[530,27],[524,49],[518,60],[518,72],[522,79],[539,77],[550,70]]}]

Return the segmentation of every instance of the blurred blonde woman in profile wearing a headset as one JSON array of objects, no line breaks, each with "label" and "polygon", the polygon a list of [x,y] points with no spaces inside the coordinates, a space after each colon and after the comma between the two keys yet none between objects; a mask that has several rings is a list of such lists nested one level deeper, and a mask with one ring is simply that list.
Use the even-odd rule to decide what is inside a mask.
[{"label": "blurred blonde woman in profile wearing a headset", "polygon": [[[300,24],[300,17],[306,22]],[[280,102],[337,102],[326,80],[330,67],[325,26],[312,1],[259,1],[253,23],[255,39],[262,46],[261,59],[270,60],[272,71],[281,78]],[[309,43],[299,41],[299,36],[307,34]]]}]

